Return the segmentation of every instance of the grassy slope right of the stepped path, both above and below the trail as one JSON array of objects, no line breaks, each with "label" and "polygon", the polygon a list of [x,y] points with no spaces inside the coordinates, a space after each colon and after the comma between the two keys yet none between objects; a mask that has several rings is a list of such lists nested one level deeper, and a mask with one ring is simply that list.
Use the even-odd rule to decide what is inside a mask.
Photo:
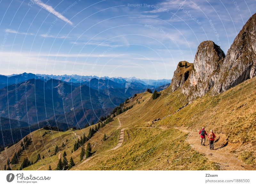
[{"label": "grassy slope right of the stepped path, both above and below the trail", "polygon": [[[167,88],[158,99],[149,99],[145,105],[140,100],[141,105],[136,103],[126,114],[119,115],[122,127],[129,128],[125,130],[124,144],[114,151],[102,152],[74,169],[200,169],[198,165],[205,157],[196,154],[184,142],[185,134],[173,128],[177,126],[194,131],[202,126],[208,131],[213,129],[218,139],[216,148],[228,142],[227,146],[220,148],[223,153],[228,151],[244,163],[255,165],[255,83],[256,78],[253,78],[218,96],[206,94],[178,112],[175,111],[179,104],[175,103],[178,100],[186,103],[179,90],[168,94]],[[170,113],[174,114],[152,124],[157,116],[162,118]],[[171,165],[167,165],[167,159]],[[179,163],[175,164],[176,161]],[[203,169],[218,169],[218,166],[209,162]]]}]

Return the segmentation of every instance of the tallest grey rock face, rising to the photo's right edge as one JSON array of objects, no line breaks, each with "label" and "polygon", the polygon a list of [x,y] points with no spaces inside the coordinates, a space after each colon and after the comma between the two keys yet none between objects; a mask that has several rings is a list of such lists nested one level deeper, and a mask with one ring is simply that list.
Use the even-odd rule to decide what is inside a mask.
[{"label": "tallest grey rock face, rising to the photo's right edge", "polygon": [[214,93],[221,93],[256,76],[256,13],[246,22],[228,50]]}]

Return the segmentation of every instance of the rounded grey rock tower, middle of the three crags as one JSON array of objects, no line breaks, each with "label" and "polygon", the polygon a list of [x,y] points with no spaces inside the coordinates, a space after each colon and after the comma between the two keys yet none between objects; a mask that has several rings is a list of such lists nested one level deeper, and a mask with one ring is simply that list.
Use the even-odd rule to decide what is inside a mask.
[{"label": "rounded grey rock tower, middle of the three crags", "polygon": [[197,48],[189,83],[182,87],[182,93],[190,98],[201,97],[217,82],[220,66],[225,54],[213,41],[204,41]]}]

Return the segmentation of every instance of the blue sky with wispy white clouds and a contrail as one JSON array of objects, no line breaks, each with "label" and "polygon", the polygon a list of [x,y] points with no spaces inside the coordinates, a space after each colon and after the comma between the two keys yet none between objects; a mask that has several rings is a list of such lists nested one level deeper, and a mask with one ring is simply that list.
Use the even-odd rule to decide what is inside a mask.
[{"label": "blue sky with wispy white clouds and a contrail", "polygon": [[200,42],[225,53],[255,0],[0,2],[0,74],[171,79]]}]

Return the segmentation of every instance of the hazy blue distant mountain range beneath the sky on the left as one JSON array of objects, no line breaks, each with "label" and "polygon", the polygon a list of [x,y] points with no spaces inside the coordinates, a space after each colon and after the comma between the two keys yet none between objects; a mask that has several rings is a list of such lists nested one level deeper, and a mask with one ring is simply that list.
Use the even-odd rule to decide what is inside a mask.
[{"label": "hazy blue distant mountain range beneath the sky on the left", "polygon": [[[42,125],[46,120],[57,126],[57,123],[66,123],[67,126],[83,128],[86,123],[97,122],[101,116],[108,115],[135,93],[147,89],[160,91],[170,83],[167,79],[145,81],[135,77],[54,76],[26,72],[9,77],[0,75],[3,136],[11,133],[19,136],[5,141],[5,144],[37,130],[38,123]],[[3,143],[0,141],[0,145]]]}]

